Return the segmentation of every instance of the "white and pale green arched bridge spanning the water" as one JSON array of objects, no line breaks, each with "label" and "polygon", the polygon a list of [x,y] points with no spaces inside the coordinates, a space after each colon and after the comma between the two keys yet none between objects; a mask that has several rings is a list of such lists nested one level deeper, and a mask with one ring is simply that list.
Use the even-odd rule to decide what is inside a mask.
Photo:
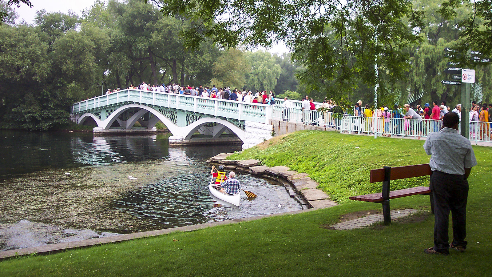
[{"label": "white and pale green arched bridge spanning the water", "polygon": [[73,104],[72,119],[77,124],[97,125],[94,132],[132,130],[137,122],[155,130],[161,121],[173,135],[171,143],[187,141],[196,132],[212,138],[233,133],[243,141],[243,148],[248,148],[272,138],[272,109],[265,104],[121,90]]}]

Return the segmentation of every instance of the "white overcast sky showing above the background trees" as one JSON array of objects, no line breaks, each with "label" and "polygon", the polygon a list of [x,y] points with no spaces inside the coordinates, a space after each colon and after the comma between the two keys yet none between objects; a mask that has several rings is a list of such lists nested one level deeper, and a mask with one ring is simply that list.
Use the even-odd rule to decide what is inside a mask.
[{"label": "white overcast sky showing above the background trees", "polygon": [[[15,11],[19,14],[17,22],[24,19],[27,23],[34,23],[34,16],[36,16],[36,11],[45,9],[47,12],[62,12],[67,13],[68,10],[72,10],[78,15],[82,14],[82,11],[89,8],[94,3],[94,0],[31,0],[32,8],[29,8],[25,4],[21,4],[21,7],[12,6]],[[264,49],[260,47],[260,49]],[[282,54],[284,52],[289,52],[289,49],[282,42],[276,44],[273,47],[267,49],[270,53]]]}]

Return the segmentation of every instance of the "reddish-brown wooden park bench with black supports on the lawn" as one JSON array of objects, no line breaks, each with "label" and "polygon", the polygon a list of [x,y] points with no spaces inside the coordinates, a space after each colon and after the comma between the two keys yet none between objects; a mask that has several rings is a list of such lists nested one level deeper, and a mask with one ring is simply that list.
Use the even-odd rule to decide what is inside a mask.
[{"label": "reddish-brown wooden park bench with black supports on the lawn", "polygon": [[350,200],[367,201],[383,204],[383,218],[384,224],[391,223],[390,214],[390,200],[405,196],[412,196],[417,194],[429,195],[431,200],[431,212],[434,213],[434,200],[432,198],[432,191],[429,187],[413,187],[399,190],[390,190],[390,181],[405,179],[411,177],[420,177],[431,175],[431,167],[429,164],[405,166],[405,167],[384,167],[382,169],[373,169],[370,171],[369,182],[383,182],[383,191],[379,193],[372,193],[359,196],[351,196]]}]

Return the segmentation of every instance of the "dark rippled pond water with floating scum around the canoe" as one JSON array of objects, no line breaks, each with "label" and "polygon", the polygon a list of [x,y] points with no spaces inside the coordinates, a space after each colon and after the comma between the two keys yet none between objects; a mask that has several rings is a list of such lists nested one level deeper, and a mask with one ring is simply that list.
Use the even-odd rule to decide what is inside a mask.
[{"label": "dark rippled pond water with floating scum around the canoe", "polygon": [[258,197],[223,205],[206,160],[241,146],[169,147],[168,136],[0,131],[0,249],[303,208],[280,184],[241,173]]}]

